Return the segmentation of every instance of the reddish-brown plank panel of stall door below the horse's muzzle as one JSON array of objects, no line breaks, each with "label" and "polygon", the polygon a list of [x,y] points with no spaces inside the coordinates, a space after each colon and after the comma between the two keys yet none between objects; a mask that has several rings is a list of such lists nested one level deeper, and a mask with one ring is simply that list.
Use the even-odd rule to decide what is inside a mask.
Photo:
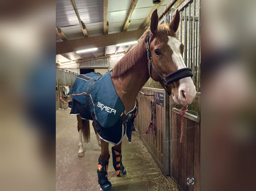
[{"label": "reddish-brown plank panel of stall door below the horse's muzzle", "polygon": [[[171,176],[183,191],[200,190],[200,123],[184,117],[183,138],[180,143],[181,116],[172,112]],[[194,175],[194,187],[185,185],[185,178]]]}]

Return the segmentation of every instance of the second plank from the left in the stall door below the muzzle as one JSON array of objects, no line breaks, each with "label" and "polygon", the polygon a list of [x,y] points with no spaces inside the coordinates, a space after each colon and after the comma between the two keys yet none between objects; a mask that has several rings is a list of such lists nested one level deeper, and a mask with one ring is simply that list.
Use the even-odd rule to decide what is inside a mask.
[{"label": "second plank from the left in the stall door below the muzzle", "polygon": [[181,117],[177,115],[177,169],[176,169],[176,182],[180,186],[181,185],[181,143],[180,143],[180,125],[181,125]]}]

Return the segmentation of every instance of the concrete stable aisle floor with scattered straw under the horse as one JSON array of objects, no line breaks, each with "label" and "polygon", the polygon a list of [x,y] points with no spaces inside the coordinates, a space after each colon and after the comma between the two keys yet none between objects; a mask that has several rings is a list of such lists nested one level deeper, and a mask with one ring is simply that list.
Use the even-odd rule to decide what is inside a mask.
[{"label": "concrete stable aisle floor with scattered straw under the horse", "polygon": [[[97,165],[101,152],[92,123],[91,142],[83,143],[85,156],[78,157],[79,134],[77,119],[69,115],[69,109],[56,111],[56,191],[99,191]],[[177,190],[170,178],[165,178],[139,138],[132,132],[132,143],[124,137],[122,143],[122,161],[127,176],[117,177],[112,164],[111,147],[108,179],[112,191]]]}]

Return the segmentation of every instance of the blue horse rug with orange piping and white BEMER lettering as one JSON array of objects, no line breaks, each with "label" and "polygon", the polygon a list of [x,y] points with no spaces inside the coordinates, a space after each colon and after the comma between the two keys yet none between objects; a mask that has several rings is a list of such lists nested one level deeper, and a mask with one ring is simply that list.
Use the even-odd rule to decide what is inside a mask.
[{"label": "blue horse rug with orange piping and white BEMER lettering", "polygon": [[70,114],[80,114],[83,119],[94,120],[97,132],[107,142],[119,144],[124,134],[131,142],[137,104],[131,111],[125,112],[110,74],[111,71],[104,75],[94,72],[78,75],[69,92],[73,98]]}]

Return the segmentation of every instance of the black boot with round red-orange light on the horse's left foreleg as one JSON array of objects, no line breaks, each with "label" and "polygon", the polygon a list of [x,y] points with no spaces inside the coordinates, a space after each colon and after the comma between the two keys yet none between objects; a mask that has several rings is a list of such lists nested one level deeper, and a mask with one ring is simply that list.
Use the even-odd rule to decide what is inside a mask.
[{"label": "black boot with round red-orange light on the horse's left foreleg", "polygon": [[[109,155],[110,157],[110,155]],[[99,164],[98,164],[98,182],[101,186],[101,189],[103,191],[109,191],[111,189],[111,183],[108,181],[108,162],[109,162],[109,157],[107,161],[104,161],[101,158],[101,155],[99,157]]]}]

